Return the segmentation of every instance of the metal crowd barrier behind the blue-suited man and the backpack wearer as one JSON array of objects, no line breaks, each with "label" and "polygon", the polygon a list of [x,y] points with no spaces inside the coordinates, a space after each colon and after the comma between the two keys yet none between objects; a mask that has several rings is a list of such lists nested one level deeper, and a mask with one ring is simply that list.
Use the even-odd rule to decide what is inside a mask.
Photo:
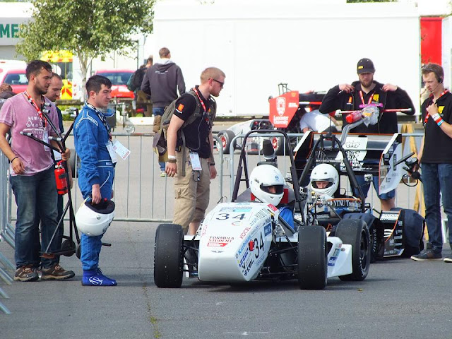
[{"label": "metal crowd barrier behind the blue-suited man and the backpack wearer", "polygon": [[[114,221],[121,222],[171,222],[174,205],[174,189],[172,178],[160,177],[158,157],[153,151],[153,133],[112,133],[126,148],[131,150],[129,157],[122,160],[118,157],[114,179],[114,201],[116,205]],[[220,139],[214,136],[217,143]],[[66,147],[73,149],[73,136],[66,140]],[[210,202],[215,204],[222,200],[223,194],[223,166],[222,149],[215,152],[215,163],[218,169],[218,179],[212,181],[218,189],[211,189]],[[80,189],[77,185],[78,168],[80,160],[76,156],[72,162],[74,179],[72,186],[72,199],[74,210],[82,203]],[[70,162],[70,163],[71,163]],[[218,196],[215,194],[218,192]],[[67,195],[64,196],[64,203]],[[12,214],[9,220],[16,218],[15,201],[8,197]],[[69,214],[65,220],[69,220]]]}]

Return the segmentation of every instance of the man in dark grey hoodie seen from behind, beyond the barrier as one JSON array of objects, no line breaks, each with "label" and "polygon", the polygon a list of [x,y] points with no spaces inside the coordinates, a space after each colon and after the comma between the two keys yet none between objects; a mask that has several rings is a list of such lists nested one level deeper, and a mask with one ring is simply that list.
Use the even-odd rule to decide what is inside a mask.
[{"label": "man in dark grey hoodie seen from behind, beyond the barrier", "polygon": [[[153,102],[154,132],[160,129],[165,107],[185,93],[184,76],[180,67],[171,60],[169,49],[162,47],[158,54],[160,61],[148,68],[141,83],[141,90],[150,95],[150,100]],[[159,162],[159,165],[160,176],[164,177],[165,162]]]}]

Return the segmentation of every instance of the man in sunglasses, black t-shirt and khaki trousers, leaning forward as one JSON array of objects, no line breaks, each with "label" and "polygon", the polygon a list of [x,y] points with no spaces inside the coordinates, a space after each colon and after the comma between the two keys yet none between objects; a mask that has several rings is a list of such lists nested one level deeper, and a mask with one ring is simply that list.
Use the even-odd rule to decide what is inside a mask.
[{"label": "man in sunglasses, black t-shirt and khaki trousers, leaning forward", "polygon": [[[201,85],[194,88],[196,97],[191,93],[179,97],[169,121],[166,173],[174,177],[173,223],[181,225],[186,234],[198,230],[209,203],[210,179],[217,175],[213,158],[212,126],[216,111],[213,97],[220,95],[224,84],[223,71],[215,67],[205,69],[201,73]],[[183,126],[195,113],[199,117]],[[184,132],[186,147],[181,147],[177,138],[179,129]]]}]

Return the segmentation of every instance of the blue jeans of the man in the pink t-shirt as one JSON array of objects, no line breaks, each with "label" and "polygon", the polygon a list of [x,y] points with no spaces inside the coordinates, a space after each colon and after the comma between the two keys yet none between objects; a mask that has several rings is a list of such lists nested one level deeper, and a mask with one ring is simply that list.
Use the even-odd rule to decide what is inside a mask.
[{"label": "blue jeans of the man in the pink t-shirt", "polygon": [[[40,258],[39,251],[54,252],[59,249],[56,235],[49,246],[50,239],[57,228],[57,184],[55,184],[53,166],[31,176],[18,175],[10,178],[11,187],[16,198],[16,268],[23,265],[49,268],[58,262],[57,258]],[[37,215],[41,218],[41,249],[36,243],[39,225]],[[47,246],[49,249],[47,250]]]}]

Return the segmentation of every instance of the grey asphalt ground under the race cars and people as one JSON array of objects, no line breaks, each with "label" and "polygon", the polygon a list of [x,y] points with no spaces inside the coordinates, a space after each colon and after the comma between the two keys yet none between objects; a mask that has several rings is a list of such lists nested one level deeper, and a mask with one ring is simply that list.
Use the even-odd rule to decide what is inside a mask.
[{"label": "grey asphalt ground under the race cars and people", "polygon": [[[118,190],[125,182],[119,180]],[[401,194],[400,194],[401,195]],[[82,287],[76,256],[65,281],[0,287],[11,314],[0,338],[451,338],[452,264],[393,258],[371,264],[366,280],[328,280],[325,290],[296,281],[212,285],[184,278],[180,289],[153,283],[156,223],[113,222],[100,266],[117,287]],[[13,261],[13,249],[0,242]],[[445,246],[444,255],[450,254]]]}]

